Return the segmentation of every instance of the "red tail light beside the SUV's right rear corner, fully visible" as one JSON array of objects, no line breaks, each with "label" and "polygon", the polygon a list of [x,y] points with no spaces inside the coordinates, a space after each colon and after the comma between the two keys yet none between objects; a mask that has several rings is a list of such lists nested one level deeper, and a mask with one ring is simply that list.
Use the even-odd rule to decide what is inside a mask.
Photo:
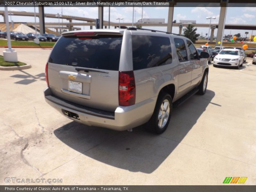
[{"label": "red tail light beside the SUV's right rear corner, fully visible", "polygon": [[133,71],[119,71],[119,105],[135,104],[136,88]]}]

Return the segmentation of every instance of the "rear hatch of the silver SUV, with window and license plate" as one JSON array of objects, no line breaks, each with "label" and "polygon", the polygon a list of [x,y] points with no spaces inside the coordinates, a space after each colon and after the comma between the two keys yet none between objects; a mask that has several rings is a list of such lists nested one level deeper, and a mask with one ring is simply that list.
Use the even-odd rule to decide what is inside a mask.
[{"label": "rear hatch of the silver SUV, with window and license plate", "polygon": [[48,81],[54,95],[83,106],[115,111],[123,34],[70,32],[53,47]]}]

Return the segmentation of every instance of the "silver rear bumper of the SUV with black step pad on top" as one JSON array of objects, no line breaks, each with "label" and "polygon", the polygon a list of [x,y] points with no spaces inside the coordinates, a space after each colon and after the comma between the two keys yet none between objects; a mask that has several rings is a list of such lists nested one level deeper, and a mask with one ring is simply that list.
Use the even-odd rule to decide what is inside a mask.
[{"label": "silver rear bumper of the SUV with black step pad on top", "polygon": [[77,119],[65,115],[69,119],[89,126],[105,127],[118,131],[131,129],[148,122],[153,114],[157,99],[151,98],[128,107],[118,106],[115,112],[109,112],[63,100],[52,95],[49,87],[44,90],[44,96],[45,101],[62,115],[65,115],[63,110],[67,110],[79,116]]}]

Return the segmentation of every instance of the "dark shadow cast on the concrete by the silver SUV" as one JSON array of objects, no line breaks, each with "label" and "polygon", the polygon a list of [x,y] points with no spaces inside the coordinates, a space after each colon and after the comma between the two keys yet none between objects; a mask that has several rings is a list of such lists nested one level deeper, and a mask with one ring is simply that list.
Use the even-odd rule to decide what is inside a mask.
[{"label": "dark shadow cast on the concrete by the silver SUV", "polygon": [[152,173],[180,144],[208,105],[221,107],[211,102],[214,96],[213,91],[207,90],[204,96],[194,95],[174,108],[169,127],[161,135],[148,133],[143,126],[133,132],[118,132],[76,122],[56,129],[54,134],[69,147],[102,163],[131,172]]}]

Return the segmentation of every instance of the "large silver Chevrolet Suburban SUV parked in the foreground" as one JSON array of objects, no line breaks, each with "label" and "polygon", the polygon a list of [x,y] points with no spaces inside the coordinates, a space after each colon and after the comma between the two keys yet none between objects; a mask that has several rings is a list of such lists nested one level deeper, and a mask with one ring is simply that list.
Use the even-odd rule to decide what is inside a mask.
[{"label": "large silver Chevrolet Suburban SUV parked in the foreground", "polygon": [[155,30],[63,33],[45,74],[45,100],[86,125],[162,133],[172,108],[206,91],[209,53],[186,37]]}]

